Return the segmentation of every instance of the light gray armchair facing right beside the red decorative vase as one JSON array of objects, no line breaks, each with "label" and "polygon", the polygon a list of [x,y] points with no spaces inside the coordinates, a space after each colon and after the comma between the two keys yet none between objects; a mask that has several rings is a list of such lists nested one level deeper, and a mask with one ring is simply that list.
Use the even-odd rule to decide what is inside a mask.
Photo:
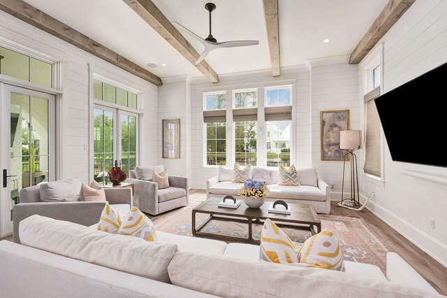
[{"label": "light gray armchair facing right beside the red decorative vase", "polygon": [[159,190],[159,185],[152,182],[152,172],[161,173],[163,166],[139,167],[130,171],[126,182],[133,183],[133,204],[142,212],[157,215],[175,208],[188,205],[188,178],[169,176],[170,187]]}]

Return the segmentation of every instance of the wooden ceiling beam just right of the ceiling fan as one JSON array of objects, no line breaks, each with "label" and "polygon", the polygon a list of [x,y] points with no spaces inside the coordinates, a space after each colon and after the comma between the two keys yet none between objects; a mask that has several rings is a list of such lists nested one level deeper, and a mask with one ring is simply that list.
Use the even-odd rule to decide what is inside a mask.
[{"label": "wooden ceiling beam just right of the ceiling fan", "polygon": [[272,76],[280,76],[278,0],[263,0],[263,6],[270,63],[272,64]]}]

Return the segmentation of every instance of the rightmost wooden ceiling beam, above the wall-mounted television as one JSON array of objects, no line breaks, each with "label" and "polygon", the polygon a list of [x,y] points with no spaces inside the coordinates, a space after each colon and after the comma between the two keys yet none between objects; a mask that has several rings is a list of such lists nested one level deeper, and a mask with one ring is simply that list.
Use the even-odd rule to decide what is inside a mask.
[{"label": "rightmost wooden ceiling beam, above the wall-mounted television", "polygon": [[358,64],[416,0],[390,0],[351,53],[349,64]]}]

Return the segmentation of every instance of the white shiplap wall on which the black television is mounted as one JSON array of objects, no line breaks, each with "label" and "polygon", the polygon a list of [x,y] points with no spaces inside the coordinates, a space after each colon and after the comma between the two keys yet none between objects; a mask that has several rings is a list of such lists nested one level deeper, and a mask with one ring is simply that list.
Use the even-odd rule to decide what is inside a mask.
[{"label": "white shiplap wall on which the black television is mounted", "polygon": [[[447,1],[418,0],[383,36],[381,41],[360,63],[359,105],[363,113],[365,76],[369,60],[381,55],[383,46],[383,91],[388,92],[407,81],[447,62]],[[443,80],[444,78],[440,78]],[[421,86],[423,87],[423,86]],[[402,99],[395,99],[402,104]],[[420,99],[406,104],[430,104],[437,108],[439,99]],[[412,117],[412,115],[409,115]],[[408,118],[396,118],[405,123]],[[406,125],[402,125],[406,127]],[[405,129],[405,128],[404,128]],[[442,138],[443,128],[432,127]],[[415,135],[417,143],[417,134]],[[409,146],[413,146],[409,144]],[[427,150],[427,151],[425,151]],[[402,170],[423,171],[447,175],[447,169],[393,162],[384,143],[385,182],[364,178],[365,195],[375,192],[368,207],[400,234],[422,248],[447,267],[447,186],[402,175]],[[416,154],[430,154],[430,148],[420,147]],[[430,227],[434,218],[434,229]]]}]

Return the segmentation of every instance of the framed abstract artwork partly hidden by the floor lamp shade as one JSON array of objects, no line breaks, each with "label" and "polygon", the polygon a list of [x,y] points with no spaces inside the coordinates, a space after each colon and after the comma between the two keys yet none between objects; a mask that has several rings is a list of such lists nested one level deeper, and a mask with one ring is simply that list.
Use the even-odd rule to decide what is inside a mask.
[{"label": "framed abstract artwork partly hidden by the floor lamp shade", "polygon": [[349,110],[321,111],[321,160],[344,160],[340,132],[348,129]]}]

